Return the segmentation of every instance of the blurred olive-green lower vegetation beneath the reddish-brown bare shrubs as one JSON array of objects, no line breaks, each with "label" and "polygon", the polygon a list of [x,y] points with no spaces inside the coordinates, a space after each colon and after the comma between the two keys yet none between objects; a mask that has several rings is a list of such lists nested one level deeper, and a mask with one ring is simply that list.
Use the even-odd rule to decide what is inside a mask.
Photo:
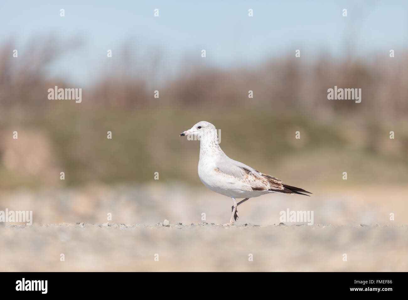
[{"label": "blurred olive-green lower vegetation beneath the reddish-brown bare shrubs", "polygon": [[[65,180],[55,182],[57,185],[137,184],[152,181],[154,172],[159,172],[161,182],[201,184],[197,176],[199,141],[179,137],[200,120],[221,130],[220,146],[228,156],[278,178],[291,178],[294,184],[338,184],[344,171],[348,172],[347,184],[405,183],[406,122],[373,127],[370,122],[356,126],[350,119],[353,117],[336,116],[322,122],[299,113],[239,108],[157,105],[142,110],[92,111],[78,105],[65,109],[55,105],[42,118],[31,118],[24,125],[49,138],[58,170],[54,176],[59,178],[59,172],[65,172]],[[397,131],[397,139],[389,139],[390,129]],[[112,131],[112,140],[107,139],[107,131]],[[300,140],[295,139],[296,131],[300,131]],[[24,138],[24,131],[19,134],[19,139]],[[27,175],[4,166],[0,185],[53,186],[44,182],[42,173]]]}]

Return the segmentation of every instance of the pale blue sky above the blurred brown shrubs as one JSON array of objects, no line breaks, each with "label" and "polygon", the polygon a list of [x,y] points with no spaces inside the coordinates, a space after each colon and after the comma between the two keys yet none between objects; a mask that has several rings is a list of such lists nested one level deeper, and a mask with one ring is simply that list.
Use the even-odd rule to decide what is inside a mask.
[{"label": "pale blue sky above the blurred brown shrubs", "polygon": [[206,63],[222,68],[293,56],[295,49],[304,58],[398,53],[408,46],[407,12],[408,1],[2,0],[0,43],[12,39],[20,56],[29,55],[31,38],[81,37],[82,48],[62,56],[50,73],[87,82],[111,63],[107,49],[115,58],[129,43],[139,59],[160,51],[165,72],[186,57],[202,59],[201,49]]}]

